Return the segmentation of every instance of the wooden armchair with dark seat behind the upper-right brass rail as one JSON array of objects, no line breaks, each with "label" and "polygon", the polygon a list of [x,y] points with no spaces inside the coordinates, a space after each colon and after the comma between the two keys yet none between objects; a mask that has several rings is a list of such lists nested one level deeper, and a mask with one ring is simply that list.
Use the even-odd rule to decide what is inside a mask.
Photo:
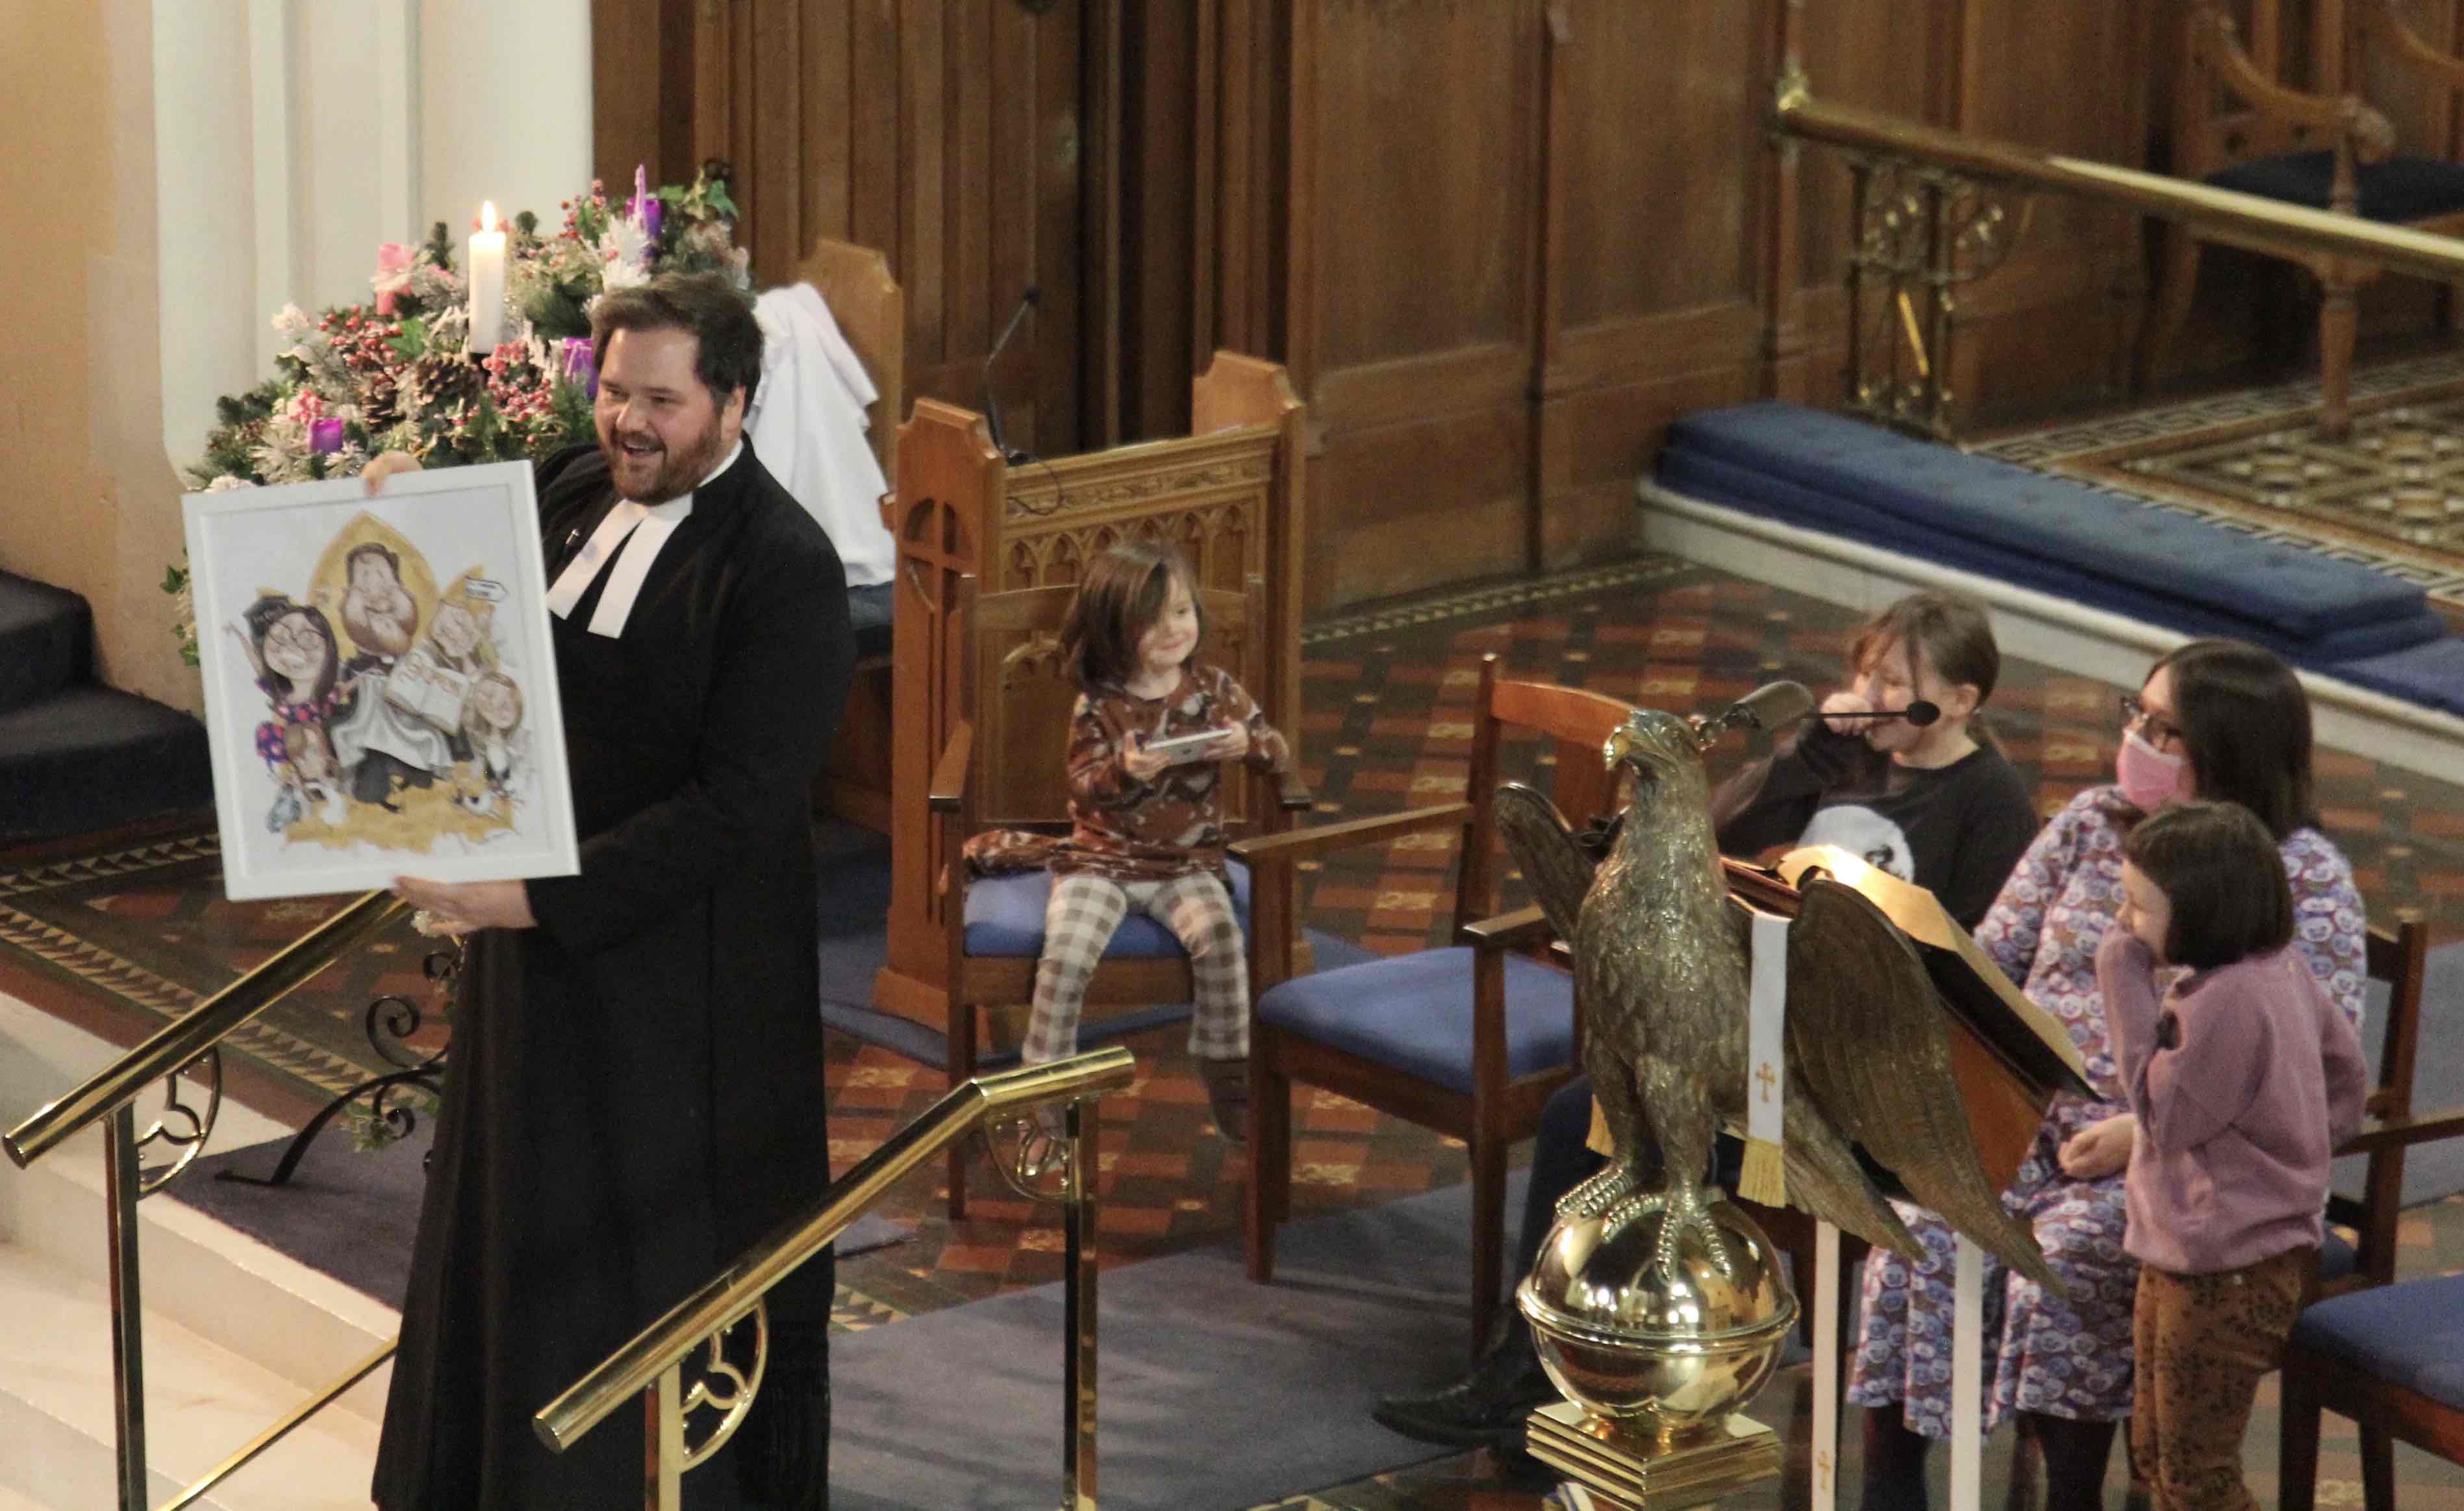
[{"label": "wooden armchair with dark seat behind the upper-right brass rail", "polygon": [[[2351,7],[2351,10],[2346,10]],[[2183,12],[2181,71],[2173,81],[2173,173],[2309,210],[2361,214],[2444,237],[2464,232],[2464,165],[2397,155],[2388,118],[2348,91],[2368,47],[2434,89],[2464,94],[2464,62],[2430,47],[2395,0],[2316,0],[2314,64],[2319,91],[2282,84],[2279,0],[2250,0],[2250,44],[2218,0]],[[2223,101],[2220,101],[2223,96]],[[2163,372],[2190,318],[2200,244],[2218,242],[2306,266],[2326,301],[2319,311],[2321,434],[2351,429],[2358,288],[2375,266],[2304,254],[2264,237],[2168,224],[2156,301],[2139,340],[2139,385]],[[2449,293],[2449,301],[2454,296]],[[2449,303],[2449,318],[2454,318]]]}]

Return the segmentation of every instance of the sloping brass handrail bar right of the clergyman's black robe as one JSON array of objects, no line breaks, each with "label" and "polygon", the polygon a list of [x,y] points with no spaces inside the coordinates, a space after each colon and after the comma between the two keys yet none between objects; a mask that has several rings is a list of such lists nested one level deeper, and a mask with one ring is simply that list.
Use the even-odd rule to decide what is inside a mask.
[{"label": "sloping brass handrail bar right of the clergyman's black robe", "polygon": [[1074,1060],[1025,1065],[954,1087],[924,1117],[892,1134],[887,1144],[833,1181],[828,1191],[813,1198],[806,1213],[774,1228],[702,1289],[670,1306],[665,1316],[540,1407],[530,1422],[540,1442],[554,1452],[569,1449],[609,1412],[655,1385],[665,1370],[680,1366],[712,1334],[734,1326],[774,1284],[818,1255],[823,1245],[855,1223],[885,1191],[909,1171],[939,1159],[983,1119],[1027,1102],[1050,1102],[1129,1085],[1133,1075],[1136,1060],[1131,1053],[1111,1045]]}]

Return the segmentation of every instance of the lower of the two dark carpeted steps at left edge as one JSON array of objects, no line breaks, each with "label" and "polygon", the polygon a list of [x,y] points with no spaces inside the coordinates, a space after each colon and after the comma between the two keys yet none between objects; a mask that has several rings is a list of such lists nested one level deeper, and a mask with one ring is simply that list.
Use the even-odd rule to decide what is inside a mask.
[{"label": "lower of the two dark carpeted steps at left edge", "polygon": [[212,801],[205,725],[175,707],[81,685],[0,712],[0,838],[86,833]]}]

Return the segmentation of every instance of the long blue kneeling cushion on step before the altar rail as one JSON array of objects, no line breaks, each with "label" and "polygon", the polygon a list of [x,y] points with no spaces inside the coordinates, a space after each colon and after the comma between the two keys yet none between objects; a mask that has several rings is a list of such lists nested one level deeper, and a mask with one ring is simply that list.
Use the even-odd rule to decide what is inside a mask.
[{"label": "long blue kneeling cushion on step before the altar rail", "polygon": [[[1870,520],[1868,532],[1892,535],[1892,550],[1954,560],[1961,547],[1979,547],[2030,569],[2067,567],[2250,624],[2277,643],[2311,646],[2314,656],[2378,656],[2444,633],[2420,587],[2358,562],[2272,545],[1801,404],[1688,414],[1668,431],[1663,466],[1671,458],[1705,458],[1745,468],[1749,481],[1796,483],[1833,508],[1853,500]],[[2011,577],[2011,567],[1996,574]],[[2385,624],[2402,624],[2410,638],[2373,641],[2368,651],[2328,638]]]}]

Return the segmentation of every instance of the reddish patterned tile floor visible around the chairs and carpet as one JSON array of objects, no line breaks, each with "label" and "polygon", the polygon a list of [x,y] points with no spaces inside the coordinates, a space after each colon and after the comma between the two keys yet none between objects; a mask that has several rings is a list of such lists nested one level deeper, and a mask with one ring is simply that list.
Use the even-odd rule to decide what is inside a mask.
[{"label": "reddish patterned tile floor visible around the chairs and carpet", "polygon": [[[1828,683],[1850,624],[1848,611],[1786,589],[1668,557],[1636,557],[1316,624],[1303,636],[1303,707],[1286,720],[1301,730],[1306,776],[1326,813],[1390,811],[1446,801],[1461,791],[1481,656],[1501,656],[1515,675],[1695,710],[1717,707],[1774,675]],[[1993,700],[1993,730],[2038,784],[2045,808],[2109,769],[2114,693],[2117,688],[2057,668],[2006,666]],[[1722,759],[1740,754],[1727,749]],[[1547,754],[1528,747],[1508,752],[1508,764],[1518,772],[1545,759]],[[2324,818],[2351,853],[2373,914],[2417,907],[2432,919],[2439,942],[2464,937],[2464,789],[2383,772],[2375,762],[2341,752],[2321,752],[2319,774]],[[121,848],[131,843],[138,841],[123,841]],[[163,841],[150,836],[145,843]],[[202,991],[227,979],[232,966],[259,959],[274,939],[266,929],[281,922],[227,910],[209,873],[185,870],[195,858],[99,885],[91,868],[74,863],[76,855],[94,853],[96,845],[89,843],[84,850],[64,845],[0,855],[0,882],[22,882],[17,892],[0,885],[0,922],[27,919],[17,927],[39,944],[34,949],[10,939],[0,947],[0,991],[94,1020],[101,1013],[91,991],[101,979],[96,971],[145,961],[145,971],[172,979],[182,991]],[[1372,949],[1419,947],[1444,932],[1451,910],[1449,860],[1441,845],[1395,845],[1331,860],[1308,878],[1308,922]],[[291,932],[298,927],[291,922]],[[71,944],[86,942],[96,956],[76,954],[57,934],[67,934]],[[397,976],[407,964],[387,956],[387,964],[372,966],[370,981],[335,986],[330,1011],[318,1011],[355,1016],[352,1003],[367,1001],[367,986]],[[126,1043],[143,1023],[103,1028]],[[1239,1232],[1239,1166],[1210,1131],[1205,1092],[1180,1053],[1178,1033],[1151,1033],[1131,1048],[1141,1057],[1141,1080],[1106,1102],[1101,1129],[1106,1265]],[[833,1035],[833,1163],[845,1166],[872,1151],[941,1092],[939,1070]],[[298,1087],[291,1097],[298,1099]],[[1296,1124],[1294,1203],[1303,1215],[1464,1178],[1459,1146],[1338,1097],[1308,1094]],[[882,1213],[909,1228],[912,1237],[840,1267],[843,1326],[894,1324],[1060,1277],[1060,1230],[1050,1213],[978,1195],[963,1223],[949,1223],[939,1195],[936,1181],[919,1173],[887,1198]],[[2415,1213],[2405,1245],[2407,1272],[2464,1267],[2464,1205]],[[1764,1398],[1777,1412],[1772,1420],[1794,1422],[1801,1415],[1789,1405],[1789,1393],[1801,1390],[1801,1380],[1804,1370],[1794,1370],[1772,1388]],[[2252,1464],[2272,1464],[2272,1415],[2262,1412],[2252,1432]],[[1414,1462],[1402,1440],[1395,1457],[1397,1464]],[[2333,1481],[2326,1486],[2326,1504],[2358,1494],[2351,1486],[2356,1467],[2348,1437],[2331,1437],[2324,1474]],[[2464,1506],[2464,1474],[2417,1454],[2400,1462],[2400,1474],[2407,1506]],[[2255,1484],[2272,1489],[2272,1472],[2257,1474]],[[1456,1454],[1400,1467],[1368,1484],[1318,1489],[1281,1509],[1525,1511],[1540,1504],[1545,1489],[1547,1481],[1518,1479],[1486,1457]]]}]

